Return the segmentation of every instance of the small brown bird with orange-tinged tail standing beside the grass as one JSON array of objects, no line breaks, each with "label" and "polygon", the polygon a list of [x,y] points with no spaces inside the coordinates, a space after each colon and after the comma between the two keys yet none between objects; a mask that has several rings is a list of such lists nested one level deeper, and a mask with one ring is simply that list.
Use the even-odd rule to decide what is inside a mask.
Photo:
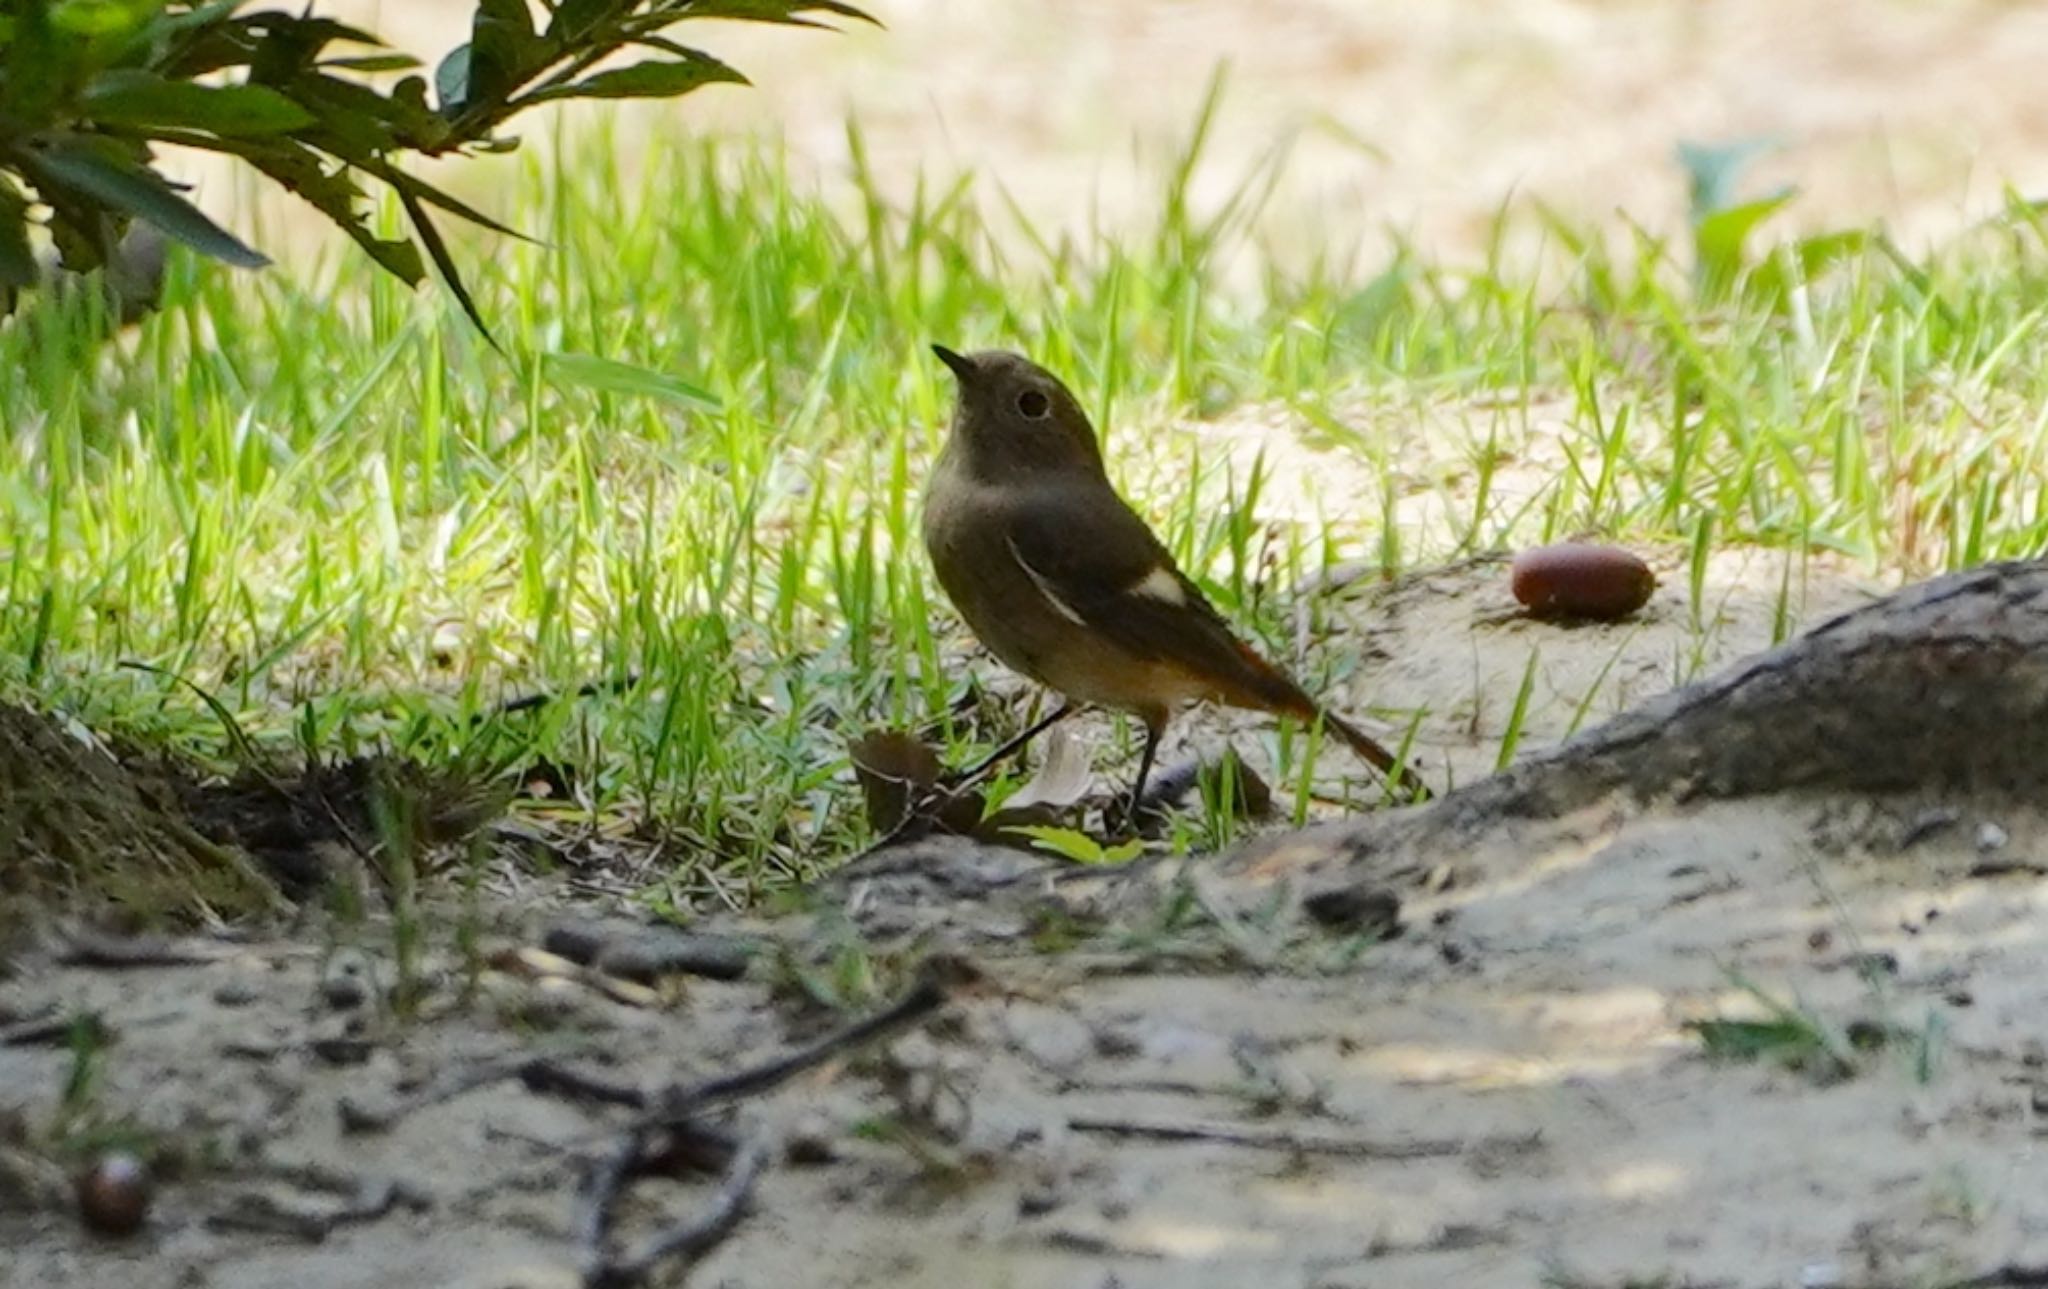
[{"label": "small brown bird with orange-tinged tail standing beside the grass", "polygon": [[1174,709],[1200,699],[1321,717],[1389,783],[1423,793],[1393,752],[1231,633],[1116,496],[1096,430],[1059,377],[1012,352],[958,355],[940,344],[932,352],[961,385],[924,494],[938,582],[1004,664],[1075,703],[1145,721],[1133,809]]}]

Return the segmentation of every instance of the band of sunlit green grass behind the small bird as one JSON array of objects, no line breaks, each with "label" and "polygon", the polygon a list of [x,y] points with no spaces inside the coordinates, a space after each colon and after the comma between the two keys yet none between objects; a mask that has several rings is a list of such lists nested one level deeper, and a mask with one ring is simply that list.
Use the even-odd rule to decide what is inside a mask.
[{"label": "band of sunlit green grass behind the small bird", "polygon": [[[1872,242],[1712,303],[1679,250],[1554,223],[1538,264],[1333,242],[1245,283],[1223,260],[1255,248],[1270,174],[1194,211],[1200,133],[1161,158],[1149,230],[1087,242],[967,178],[893,203],[856,168],[815,193],[772,150],[709,141],[629,178],[600,135],[496,193],[541,246],[459,246],[510,357],[352,254],[295,277],[178,260],[166,311],[84,369],[47,328],[0,330],[6,689],[225,758],[170,672],[276,750],[575,766],[559,809],[655,820],[684,883],[809,873],[864,838],[846,736],[1001,732],[950,715],[975,668],[915,539],[950,398],[930,340],[1067,375],[1141,506],[1276,652],[1280,592],[1333,559],[1599,531],[1696,568],[1753,543],[1921,574],[2042,547],[2030,207],[1925,262]],[[1376,486],[1274,541],[1270,477],[1171,432],[1253,406]],[[1417,498],[1434,523],[1401,521]],[[1307,740],[1274,746],[1300,814]]]}]

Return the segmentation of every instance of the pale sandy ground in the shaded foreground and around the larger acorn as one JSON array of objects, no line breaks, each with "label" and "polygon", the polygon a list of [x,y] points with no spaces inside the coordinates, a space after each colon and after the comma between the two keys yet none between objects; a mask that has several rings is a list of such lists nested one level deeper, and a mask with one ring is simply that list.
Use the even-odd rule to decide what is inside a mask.
[{"label": "pale sandy ground in the shaded foreground and around the larger acorn", "polygon": [[[1430,695],[1446,713],[1460,695],[1511,693],[1497,676],[1518,678],[1540,648],[1542,740],[1602,668],[1620,703],[1665,689],[1661,668],[1694,641],[1704,666],[1767,643],[1778,580],[1729,559],[1706,637],[1671,588],[1630,625],[1511,619],[1485,564],[1333,605],[1403,660],[1378,682],[1446,687]],[[1802,609],[1862,598],[1812,582]],[[1423,641],[1470,662],[1411,662],[1432,654]],[[1489,699],[1432,725],[1427,762],[1485,760],[1499,719]],[[2048,820],[1972,801],[1595,809],[1442,855],[1397,887],[1405,932],[1362,951],[1264,920],[1270,875],[1212,861],[1194,867],[1200,916],[1141,910],[1077,943],[1047,939],[1042,920],[1030,934],[1012,887],[932,879],[950,896],[924,902],[887,877],[834,887],[817,912],[756,930],[838,963],[819,978],[952,943],[985,980],[926,1031],[745,1103],[735,1123],[778,1141],[750,1217],[692,1273],[651,1283],[1903,1289],[2038,1269],[2044,846]],[[487,951],[569,910],[557,881],[518,867],[487,887]],[[508,1053],[653,1086],[760,1062],[823,1025],[774,959],[659,1002],[494,973],[477,1004],[436,1000],[410,1025],[336,1008],[322,984],[336,963],[389,982],[387,947],[377,924],[315,926],[201,965],[45,961],[0,986],[4,1014],[104,1016],[117,1037],[94,1113],[205,1160],[164,1187],[141,1236],[111,1242],[78,1230],[61,1172],[0,1150],[0,1283],[575,1283],[578,1187],[616,1111],[498,1084],[350,1135],[340,1100],[389,1103]],[[1712,1062],[1683,1025],[1759,1014],[1743,980],[1837,1043],[1858,1029],[1892,1041],[1853,1055],[1847,1078]],[[0,1141],[47,1129],[68,1070],[61,1047],[0,1045]],[[397,1178],[420,1207],[322,1242],[221,1228],[252,1193],[334,1209],[309,1184],[334,1176],[344,1191]],[[709,1189],[649,1184],[629,1225],[674,1219]]]}]

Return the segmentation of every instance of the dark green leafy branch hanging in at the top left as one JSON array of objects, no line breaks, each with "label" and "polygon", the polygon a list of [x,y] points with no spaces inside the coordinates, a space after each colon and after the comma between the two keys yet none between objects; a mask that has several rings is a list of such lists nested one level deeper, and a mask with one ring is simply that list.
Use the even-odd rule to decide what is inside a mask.
[{"label": "dark green leafy branch hanging in at the top left", "polygon": [[[504,125],[545,102],[748,84],[664,35],[686,18],[870,20],[838,0],[477,0],[469,41],[428,84],[416,57],[369,31],[311,10],[248,8],[16,0],[0,10],[0,301],[39,279],[35,225],[74,273],[109,264],[137,219],[227,264],[266,264],[158,170],[154,145],[176,143],[242,158],[408,285],[432,260],[483,330],[436,217],[518,234],[408,174],[399,158],[506,152],[518,139]],[[604,66],[627,51],[651,57]],[[412,236],[377,236],[365,180],[395,193]]]}]

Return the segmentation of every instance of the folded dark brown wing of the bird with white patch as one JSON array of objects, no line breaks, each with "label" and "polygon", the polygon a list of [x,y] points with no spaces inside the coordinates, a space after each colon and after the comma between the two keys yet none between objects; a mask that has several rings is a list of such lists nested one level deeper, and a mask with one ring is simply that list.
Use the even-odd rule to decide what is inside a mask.
[{"label": "folded dark brown wing of the bird with white patch", "polygon": [[1300,711],[1309,699],[1231,631],[1145,521],[1110,490],[1020,490],[1004,516],[1010,553],[1051,607],[1106,643],[1200,678],[1243,707]]}]

